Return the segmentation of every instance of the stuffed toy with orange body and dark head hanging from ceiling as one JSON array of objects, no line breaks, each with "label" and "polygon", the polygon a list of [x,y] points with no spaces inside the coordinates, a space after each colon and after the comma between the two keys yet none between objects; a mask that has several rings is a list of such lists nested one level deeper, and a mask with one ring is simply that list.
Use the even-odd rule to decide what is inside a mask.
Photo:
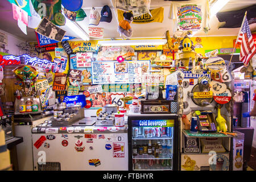
[{"label": "stuffed toy with orange body and dark head hanging from ceiling", "polygon": [[131,28],[130,23],[133,22],[133,14],[132,13],[123,13],[123,17],[125,19],[119,22],[118,32],[120,36],[125,36],[126,38],[130,38],[133,35],[133,28]]}]

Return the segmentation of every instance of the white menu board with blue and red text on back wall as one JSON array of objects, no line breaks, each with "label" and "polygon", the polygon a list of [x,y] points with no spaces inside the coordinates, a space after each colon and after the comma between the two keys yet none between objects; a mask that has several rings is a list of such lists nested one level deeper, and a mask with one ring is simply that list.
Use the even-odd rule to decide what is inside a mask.
[{"label": "white menu board with blue and red text on back wall", "polygon": [[[147,70],[142,69],[147,68]],[[141,83],[142,72],[150,69],[150,61],[93,61],[93,84]]]}]

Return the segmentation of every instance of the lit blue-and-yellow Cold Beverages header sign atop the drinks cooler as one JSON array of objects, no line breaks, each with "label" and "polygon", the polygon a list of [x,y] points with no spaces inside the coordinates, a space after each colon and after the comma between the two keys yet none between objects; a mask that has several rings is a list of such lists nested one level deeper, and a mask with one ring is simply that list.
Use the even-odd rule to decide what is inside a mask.
[{"label": "lit blue-and-yellow Cold Beverages header sign atop the drinks cooler", "polygon": [[173,119],[159,119],[159,120],[133,120],[134,127],[173,127]]}]

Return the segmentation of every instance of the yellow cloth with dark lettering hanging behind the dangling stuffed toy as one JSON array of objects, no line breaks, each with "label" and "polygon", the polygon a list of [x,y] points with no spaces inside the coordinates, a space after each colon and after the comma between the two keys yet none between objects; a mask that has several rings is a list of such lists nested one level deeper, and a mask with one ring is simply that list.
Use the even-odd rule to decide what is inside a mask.
[{"label": "yellow cloth with dark lettering hanging behind the dangling stuffed toy", "polygon": [[[159,7],[157,9],[150,10],[150,14],[152,16],[150,16],[150,14],[146,13],[141,16],[134,17],[132,23],[138,23],[138,24],[153,23],[153,22],[162,23],[163,22],[163,11],[164,11],[163,7]],[[123,20],[124,12],[125,11],[117,10],[119,22],[121,22],[121,20]],[[132,11],[130,11],[130,13],[132,13]]]}]

